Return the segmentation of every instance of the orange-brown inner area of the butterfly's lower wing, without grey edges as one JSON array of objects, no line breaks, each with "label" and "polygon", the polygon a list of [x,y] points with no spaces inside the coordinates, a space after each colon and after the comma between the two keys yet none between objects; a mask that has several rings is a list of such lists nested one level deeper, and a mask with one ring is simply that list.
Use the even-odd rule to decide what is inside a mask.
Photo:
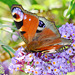
[{"label": "orange-brown inner area of the butterfly's lower wing, without grey edges", "polygon": [[[38,37],[39,36],[39,37]],[[28,50],[36,50],[36,51],[43,51],[43,50],[50,50],[54,47],[57,48],[61,47],[62,45],[54,45],[61,43],[61,38],[56,38],[56,34],[52,32],[50,29],[45,28],[41,33],[39,33],[34,41],[30,42],[27,45]]]}]

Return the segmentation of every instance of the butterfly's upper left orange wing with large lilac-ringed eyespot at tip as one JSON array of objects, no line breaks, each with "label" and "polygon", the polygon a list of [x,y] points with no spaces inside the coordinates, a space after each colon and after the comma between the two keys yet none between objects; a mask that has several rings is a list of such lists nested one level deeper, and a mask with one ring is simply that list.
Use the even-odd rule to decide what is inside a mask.
[{"label": "butterfly's upper left orange wing with large lilac-ringed eyespot at tip", "polygon": [[13,5],[11,12],[16,27],[20,31],[23,40],[26,43],[31,42],[39,24],[38,17],[25,11],[21,5]]}]

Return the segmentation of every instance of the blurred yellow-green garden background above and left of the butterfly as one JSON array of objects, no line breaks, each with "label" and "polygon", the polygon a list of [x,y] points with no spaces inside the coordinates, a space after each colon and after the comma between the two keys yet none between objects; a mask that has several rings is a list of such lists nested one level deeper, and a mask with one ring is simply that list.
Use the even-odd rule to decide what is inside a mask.
[{"label": "blurred yellow-green garden background above and left of the butterfly", "polygon": [[[75,0],[0,0],[0,45],[7,45],[0,47],[0,55],[3,49],[9,53],[10,47],[17,49],[22,42],[11,15],[13,4],[21,4],[24,9],[55,22],[57,28],[67,22],[75,25]],[[12,49],[11,52],[14,53]]]}]

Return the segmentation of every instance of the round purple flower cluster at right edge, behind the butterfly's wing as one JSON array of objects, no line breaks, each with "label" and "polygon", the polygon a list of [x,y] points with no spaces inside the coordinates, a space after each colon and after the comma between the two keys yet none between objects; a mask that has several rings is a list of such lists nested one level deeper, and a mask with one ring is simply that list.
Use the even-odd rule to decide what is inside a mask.
[{"label": "round purple flower cluster at right edge, behind the butterfly's wing", "polygon": [[59,28],[61,38],[73,40],[71,46],[75,49],[75,26],[69,23]]}]

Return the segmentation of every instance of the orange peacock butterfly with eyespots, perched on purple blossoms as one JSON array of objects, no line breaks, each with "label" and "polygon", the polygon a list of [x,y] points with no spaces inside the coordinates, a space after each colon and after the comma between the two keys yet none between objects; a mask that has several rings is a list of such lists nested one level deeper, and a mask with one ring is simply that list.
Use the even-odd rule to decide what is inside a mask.
[{"label": "orange peacock butterfly with eyespots, perched on purple blossoms", "polygon": [[59,31],[51,21],[37,16],[21,5],[12,5],[11,13],[22,39],[29,52],[55,53],[70,43],[60,37]]}]

